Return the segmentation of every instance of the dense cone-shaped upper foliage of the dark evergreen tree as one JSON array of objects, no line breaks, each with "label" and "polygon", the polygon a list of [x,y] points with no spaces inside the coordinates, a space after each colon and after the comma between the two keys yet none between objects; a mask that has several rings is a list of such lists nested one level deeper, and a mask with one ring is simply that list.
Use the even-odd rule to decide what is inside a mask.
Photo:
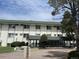
[{"label": "dense cone-shaped upper foliage of the dark evergreen tree", "polygon": [[68,35],[75,33],[74,20],[71,16],[70,12],[68,12],[68,11],[66,11],[64,13],[64,18],[61,22],[61,28],[62,28],[62,32],[65,32]]}]

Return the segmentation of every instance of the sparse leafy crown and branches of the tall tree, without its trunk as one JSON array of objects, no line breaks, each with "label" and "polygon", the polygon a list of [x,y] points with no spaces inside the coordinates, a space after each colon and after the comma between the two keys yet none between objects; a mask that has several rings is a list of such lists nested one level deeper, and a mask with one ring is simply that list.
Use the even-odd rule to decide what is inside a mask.
[{"label": "sparse leafy crown and branches of the tall tree, without its trunk", "polygon": [[[49,0],[49,5],[54,7],[54,15],[58,13],[59,10],[69,9],[73,16],[73,19],[76,20],[77,13],[79,12],[79,0]],[[52,14],[53,15],[53,14]]]}]

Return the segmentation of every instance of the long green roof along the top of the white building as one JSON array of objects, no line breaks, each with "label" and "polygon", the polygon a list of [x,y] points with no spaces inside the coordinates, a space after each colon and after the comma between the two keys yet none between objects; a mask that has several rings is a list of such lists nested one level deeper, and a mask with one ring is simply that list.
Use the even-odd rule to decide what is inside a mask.
[{"label": "long green roof along the top of the white building", "polygon": [[32,20],[5,20],[0,19],[0,24],[41,24],[41,25],[54,25],[60,26],[60,22],[53,21],[32,21]]}]

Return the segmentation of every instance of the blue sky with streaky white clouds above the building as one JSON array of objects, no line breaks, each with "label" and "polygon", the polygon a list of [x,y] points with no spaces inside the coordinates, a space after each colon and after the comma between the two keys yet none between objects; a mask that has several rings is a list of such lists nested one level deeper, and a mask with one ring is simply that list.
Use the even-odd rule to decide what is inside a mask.
[{"label": "blue sky with streaky white clouds above the building", "polygon": [[52,16],[48,0],[0,0],[0,19],[61,21],[63,13]]}]

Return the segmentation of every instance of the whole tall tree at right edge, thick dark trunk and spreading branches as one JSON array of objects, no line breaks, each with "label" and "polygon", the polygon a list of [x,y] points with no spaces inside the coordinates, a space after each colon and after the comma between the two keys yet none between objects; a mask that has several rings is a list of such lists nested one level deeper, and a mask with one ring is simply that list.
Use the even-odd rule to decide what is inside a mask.
[{"label": "whole tall tree at right edge, thick dark trunk and spreading branches", "polygon": [[72,16],[71,21],[74,21],[75,24],[77,51],[79,51],[79,27],[76,24],[76,21],[79,20],[79,0],[49,0],[48,2],[50,6],[55,8],[54,12],[56,14],[60,9],[67,8],[70,10]]}]

